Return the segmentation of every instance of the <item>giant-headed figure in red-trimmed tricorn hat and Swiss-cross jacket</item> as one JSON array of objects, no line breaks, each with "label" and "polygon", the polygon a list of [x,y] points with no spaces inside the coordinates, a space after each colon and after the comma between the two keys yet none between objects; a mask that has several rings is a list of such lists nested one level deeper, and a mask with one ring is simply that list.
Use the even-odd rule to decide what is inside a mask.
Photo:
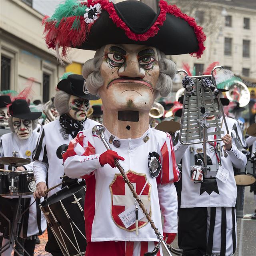
[{"label": "giant-headed figure in red-trimmed tricorn hat and Swiss-cross jacket", "polygon": [[83,75],[89,92],[102,98],[105,137],[114,150],[106,151],[88,129],[78,133],[63,155],[65,173],[86,179],[86,255],[143,255],[158,239],[143,214],[138,225],[125,222],[125,211],[134,213],[136,206],[114,159],[122,160],[160,233],[161,207],[163,231],[172,242],[177,232],[173,182],[179,172],[170,136],[149,128],[149,111],[156,97],[167,96],[172,88],[176,67],[165,54],[194,52],[199,57],[205,35],[194,19],[162,0],[157,14],[140,1],[74,1],[73,6],[67,1],[59,8],[70,20],[76,16],[81,26],[67,37],[62,26],[73,28],[65,24],[68,19],[61,17],[64,22],[56,27],[56,20],[46,17],[46,43],[62,46],[63,55],[70,46],[97,50]]}]

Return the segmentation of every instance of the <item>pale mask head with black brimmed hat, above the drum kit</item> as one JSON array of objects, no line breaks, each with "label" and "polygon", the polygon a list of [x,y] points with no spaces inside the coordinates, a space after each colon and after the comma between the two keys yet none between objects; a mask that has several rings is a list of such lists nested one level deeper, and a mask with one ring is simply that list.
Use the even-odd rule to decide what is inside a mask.
[{"label": "pale mask head with black brimmed hat, above the drum kit", "polygon": [[26,100],[22,99],[14,100],[9,107],[9,112],[10,129],[20,140],[26,140],[31,136],[38,118],[42,115],[42,112],[31,112]]}]

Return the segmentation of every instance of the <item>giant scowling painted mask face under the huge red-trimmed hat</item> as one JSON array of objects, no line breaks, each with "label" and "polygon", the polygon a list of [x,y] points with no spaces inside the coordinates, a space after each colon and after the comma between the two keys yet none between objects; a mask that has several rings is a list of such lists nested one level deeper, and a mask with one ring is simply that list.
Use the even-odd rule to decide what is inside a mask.
[{"label": "giant scowling painted mask face under the huge red-trimmed hat", "polygon": [[157,95],[159,66],[156,48],[108,44],[100,74],[104,85],[99,94],[105,109],[149,112]]}]

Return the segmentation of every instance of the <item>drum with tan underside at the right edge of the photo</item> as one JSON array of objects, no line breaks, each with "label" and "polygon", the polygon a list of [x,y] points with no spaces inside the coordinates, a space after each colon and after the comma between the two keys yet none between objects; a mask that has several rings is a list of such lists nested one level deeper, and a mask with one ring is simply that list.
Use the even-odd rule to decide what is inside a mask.
[{"label": "drum with tan underside at the right edge of the photo", "polygon": [[250,160],[242,169],[234,168],[236,185],[238,186],[250,186],[256,182],[255,164]]}]

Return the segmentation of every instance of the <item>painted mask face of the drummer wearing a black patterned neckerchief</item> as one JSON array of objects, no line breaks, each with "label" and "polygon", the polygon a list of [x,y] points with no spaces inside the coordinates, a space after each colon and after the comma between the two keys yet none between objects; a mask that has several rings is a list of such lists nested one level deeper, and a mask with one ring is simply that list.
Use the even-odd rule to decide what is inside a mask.
[{"label": "painted mask face of the drummer wearing a black patterned neckerchief", "polygon": [[86,110],[89,106],[89,101],[79,98],[77,96],[71,95],[69,102],[69,116],[74,120],[78,120],[80,122],[84,121],[86,118]]}]

